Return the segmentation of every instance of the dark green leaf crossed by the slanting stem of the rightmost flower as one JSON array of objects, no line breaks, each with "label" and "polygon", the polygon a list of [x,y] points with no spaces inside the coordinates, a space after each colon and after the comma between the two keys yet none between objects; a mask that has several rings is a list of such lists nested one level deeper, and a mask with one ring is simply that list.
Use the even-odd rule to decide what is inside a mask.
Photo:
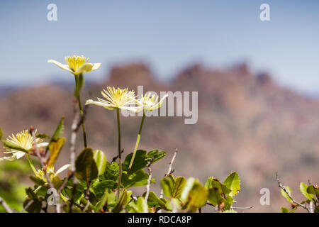
[{"label": "dark green leaf crossed by the slanting stem of the rightmost flower", "polygon": [[[145,160],[145,155],[146,155],[145,150],[137,150],[136,151],[133,165],[130,169],[130,172],[128,172],[128,175],[131,175],[134,172],[146,167],[147,160]],[[128,171],[128,166],[130,165],[130,160],[132,159],[132,156],[133,156],[133,153],[130,153],[125,157],[125,160],[124,160],[123,165],[122,165],[123,171]]]}]

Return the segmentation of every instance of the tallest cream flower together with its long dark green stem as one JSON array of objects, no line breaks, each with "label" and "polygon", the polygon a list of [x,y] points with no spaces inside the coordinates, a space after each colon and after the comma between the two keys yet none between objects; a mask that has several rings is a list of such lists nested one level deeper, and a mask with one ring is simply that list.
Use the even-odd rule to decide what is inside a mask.
[{"label": "tallest cream flower together with its long dark green stem", "polygon": [[[83,73],[98,70],[99,67],[101,66],[101,63],[89,63],[89,58],[86,58],[83,55],[68,56],[68,57],[65,57],[65,61],[67,62],[67,65],[57,62],[56,60],[47,60],[48,63],[53,63],[57,65],[58,67],[60,67],[61,69],[67,70],[71,72],[72,74],[74,74],[74,78],[75,78],[74,96],[77,99],[80,114],[81,116],[83,116],[83,109],[82,109],[81,96],[80,96],[80,91],[82,87],[84,86]],[[83,131],[84,147],[86,148],[87,142],[86,142],[86,130],[85,130],[84,121],[82,121],[82,131]]]}]

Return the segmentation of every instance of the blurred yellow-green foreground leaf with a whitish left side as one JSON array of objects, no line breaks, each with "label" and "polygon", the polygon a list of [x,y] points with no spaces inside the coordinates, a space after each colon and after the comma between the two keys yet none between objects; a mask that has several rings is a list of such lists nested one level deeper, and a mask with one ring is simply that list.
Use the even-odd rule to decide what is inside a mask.
[{"label": "blurred yellow-green foreground leaf with a whitish left side", "polygon": [[200,208],[206,204],[208,199],[207,190],[201,185],[198,179],[190,177],[187,179],[183,191],[181,192],[181,201],[185,204],[183,207]]}]

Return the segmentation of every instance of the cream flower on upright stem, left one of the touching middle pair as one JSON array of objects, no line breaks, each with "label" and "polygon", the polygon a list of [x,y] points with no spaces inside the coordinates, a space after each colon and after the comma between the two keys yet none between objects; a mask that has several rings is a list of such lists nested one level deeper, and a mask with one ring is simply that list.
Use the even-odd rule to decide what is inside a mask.
[{"label": "cream flower on upright stem, left one of the touching middle pair", "polygon": [[115,89],[114,87],[107,87],[106,89],[103,89],[101,94],[106,100],[98,98],[99,101],[93,101],[92,99],[89,99],[86,101],[86,105],[95,104],[97,106],[103,106],[105,109],[118,108],[133,112],[138,111],[137,107],[131,106],[136,102],[134,91],[128,91],[127,88]]}]

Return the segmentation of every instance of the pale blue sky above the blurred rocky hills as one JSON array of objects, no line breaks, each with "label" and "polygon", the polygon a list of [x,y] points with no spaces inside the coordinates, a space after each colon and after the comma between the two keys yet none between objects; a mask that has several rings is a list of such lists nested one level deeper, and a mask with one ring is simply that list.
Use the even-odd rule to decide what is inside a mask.
[{"label": "pale blue sky above the blurred rocky hills", "polygon": [[[57,21],[47,21],[47,5]],[[271,21],[259,20],[270,6]],[[111,65],[150,64],[167,79],[191,62],[230,67],[247,61],[286,87],[319,94],[319,1],[130,0],[0,3],[0,84],[33,85],[73,77],[48,59],[85,55],[101,62],[86,74],[99,80]]]}]

